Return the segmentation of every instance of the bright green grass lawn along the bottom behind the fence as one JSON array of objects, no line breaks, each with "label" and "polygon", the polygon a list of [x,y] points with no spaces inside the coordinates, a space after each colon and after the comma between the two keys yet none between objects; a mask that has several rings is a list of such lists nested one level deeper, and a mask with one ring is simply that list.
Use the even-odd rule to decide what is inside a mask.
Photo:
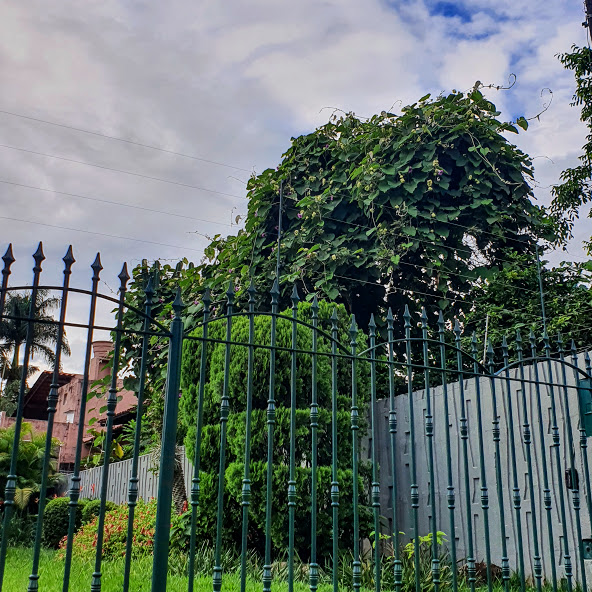
[{"label": "bright green grass lawn along the bottom behind the fence", "polygon": [[[4,574],[4,590],[7,592],[25,592],[31,573],[32,550],[25,548],[13,548],[8,551],[6,571]],[[103,592],[121,592],[123,583],[123,560],[105,561],[102,567]],[[94,564],[92,562],[74,559],[72,574],[70,577],[71,592],[85,592],[90,589],[90,582]],[[42,550],[41,564],[39,567],[39,590],[43,592],[62,592],[64,562],[56,557],[55,551]],[[144,557],[132,562],[130,577],[130,592],[150,592],[152,576],[152,557]],[[272,584],[272,589],[287,590],[285,582]],[[166,592],[185,592],[187,590],[187,578],[181,576],[169,576]],[[195,592],[211,592],[212,578],[199,576],[195,579]],[[238,574],[223,576],[222,590],[234,592],[240,590]],[[261,582],[249,580],[248,592],[260,592]],[[308,585],[297,582],[294,584],[296,592],[306,592]],[[332,587],[327,584],[319,586],[319,592],[331,592]]]}]

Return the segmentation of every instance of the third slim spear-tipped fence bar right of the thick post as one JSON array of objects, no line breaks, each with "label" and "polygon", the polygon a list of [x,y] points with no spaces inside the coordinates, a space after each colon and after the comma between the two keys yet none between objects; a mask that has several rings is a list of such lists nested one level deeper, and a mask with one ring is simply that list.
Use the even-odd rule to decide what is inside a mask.
[{"label": "third slim spear-tipped fence bar right of the thick post", "polygon": [[245,466],[241,488],[243,508],[241,542],[241,592],[247,589],[247,544],[249,535],[249,506],[251,505],[251,415],[253,411],[253,356],[255,355],[255,284],[251,280],[249,294],[249,346],[247,358],[247,408],[245,415]]}]

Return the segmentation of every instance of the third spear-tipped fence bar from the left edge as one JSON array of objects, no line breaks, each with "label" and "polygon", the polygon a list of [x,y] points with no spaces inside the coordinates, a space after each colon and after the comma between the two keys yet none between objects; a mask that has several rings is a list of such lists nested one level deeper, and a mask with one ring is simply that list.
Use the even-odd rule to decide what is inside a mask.
[{"label": "third spear-tipped fence bar from the left edge", "polygon": [[64,323],[66,322],[66,308],[68,305],[68,291],[70,289],[70,276],[72,275],[72,265],[75,262],[72,253],[72,245],[64,258],[64,281],[62,284],[62,300],[60,303],[60,317],[58,322],[58,334],[55,346],[55,360],[53,364],[53,373],[51,385],[47,396],[47,431],[45,433],[45,452],[43,456],[43,468],[41,471],[41,487],[39,490],[39,506],[37,514],[37,525],[35,529],[35,543],[33,545],[33,568],[29,575],[28,592],[35,592],[39,589],[39,558],[41,554],[41,532],[43,529],[43,511],[45,510],[45,498],[47,497],[47,479],[49,477],[49,460],[51,458],[51,449],[53,448],[53,424],[58,402],[58,388],[60,386],[60,366],[62,360],[62,347],[64,344]]}]

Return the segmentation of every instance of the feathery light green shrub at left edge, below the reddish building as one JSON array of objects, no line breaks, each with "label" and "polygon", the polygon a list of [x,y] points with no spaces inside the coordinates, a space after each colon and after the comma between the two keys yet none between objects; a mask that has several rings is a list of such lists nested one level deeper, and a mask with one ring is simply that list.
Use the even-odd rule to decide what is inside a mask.
[{"label": "feathery light green shrub at left edge, below the reddish building", "polygon": [[[14,442],[14,426],[0,429],[0,497],[4,498],[6,479],[10,470],[10,458]],[[34,493],[39,491],[43,459],[45,454],[45,433],[35,432],[30,423],[23,422],[18,447],[16,475],[18,490]],[[49,462],[48,487],[55,485],[59,474],[57,473],[57,458],[60,442],[52,440],[51,458]],[[24,504],[26,505],[26,504]]]}]

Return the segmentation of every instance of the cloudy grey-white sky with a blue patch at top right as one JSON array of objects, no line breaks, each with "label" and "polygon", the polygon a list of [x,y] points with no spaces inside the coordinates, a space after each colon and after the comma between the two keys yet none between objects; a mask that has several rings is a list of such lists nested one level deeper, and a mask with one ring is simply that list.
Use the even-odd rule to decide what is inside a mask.
[{"label": "cloudy grey-white sky with a blue patch at top right", "polygon": [[[100,251],[109,293],[124,260],[197,261],[207,235],[236,231],[251,172],[276,166],[291,136],[328,119],[323,108],[397,111],[511,74],[510,91],[488,91],[504,119],[536,115],[553,91],[540,122],[512,137],[536,157],[547,203],[584,143],[556,58],[586,42],[582,20],[567,0],[8,0],[0,248],[13,243],[15,281],[27,282],[43,240],[56,282],[72,243],[79,287]],[[552,260],[583,258],[582,218]],[[73,317],[82,310],[73,302]]]}]

